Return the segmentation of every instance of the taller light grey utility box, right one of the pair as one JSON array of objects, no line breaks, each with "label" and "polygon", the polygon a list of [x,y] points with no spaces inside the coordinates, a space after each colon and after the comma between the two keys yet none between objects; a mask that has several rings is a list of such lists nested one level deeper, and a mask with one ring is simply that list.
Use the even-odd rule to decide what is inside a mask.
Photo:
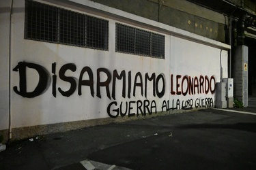
[{"label": "taller light grey utility box, right one of the pair", "polygon": [[223,78],[223,82],[225,82],[227,91],[226,91],[226,100],[227,107],[233,108],[233,78]]}]

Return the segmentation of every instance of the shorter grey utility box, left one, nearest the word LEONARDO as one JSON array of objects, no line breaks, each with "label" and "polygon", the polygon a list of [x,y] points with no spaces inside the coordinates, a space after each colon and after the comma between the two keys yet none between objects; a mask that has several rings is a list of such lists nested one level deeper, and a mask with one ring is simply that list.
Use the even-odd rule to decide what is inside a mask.
[{"label": "shorter grey utility box, left one, nearest the word LEONARDO", "polygon": [[216,85],[217,85],[216,107],[217,108],[227,108],[226,83],[225,82],[217,82]]}]

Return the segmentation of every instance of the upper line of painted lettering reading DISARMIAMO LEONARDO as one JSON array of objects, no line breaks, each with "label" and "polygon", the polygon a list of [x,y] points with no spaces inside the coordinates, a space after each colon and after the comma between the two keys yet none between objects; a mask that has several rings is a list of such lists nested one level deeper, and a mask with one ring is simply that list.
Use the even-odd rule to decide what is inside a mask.
[{"label": "upper line of painted lettering reading DISARMIAMO LEONARDO", "polygon": [[[39,75],[38,85],[32,92],[27,92],[27,75],[26,69],[35,69]],[[68,63],[63,65],[59,69],[59,79],[63,80],[64,82],[68,82],[70,84],[70,88],[68,90],[62,90],[60,87],[57,88],[57,74],[56,74],[56,63],[52,64],[52,73],[51,76],[48,71],[42,67],[41,65],[37,65],[35,63],[26,63],[20,62],[18,65],[13,69],[14,71],[19,71],[20,83],[19,83],[19,90],[17,86],[14,86],[14,91],[23,97],[32,98],[42,95],[48,87],[51,85],[51,77],[52,77],[52,94],[54,97],[57,96],[57,89],[61,93],[61,95],[65,97],[70,97],[75,90],[76,87],[78,89],[78,95],[82,95],[82,87],[87,86],[89,87],[90,94],[94,97],[95,89],[94,89],[94,72],[91,70],[90,67],[83,67],[79,74],[79,79],[66,76],[66,71],[76,71],[76,65],[73,63]],[[88,75],[87,80],[83,80],[83,75]],[[106,75],[106,80],[102,80],[101,75]],[[156,75],[156,73],[145,73],[143,76],[142,73],[137,72],[132,79],[132,72],[122,70],[120,73],[117,72],[115,69],[111,75],[111,72],[106,68],[98,68],[96,70],[96,96],[101,98],[101,90],[100,88],[103,87],[106,90],[106,96],[109,99],[115,100],[115,93],[116,93],[116,82],[117,80],[122,81],[122,97],[127,97],[130,99],[131,93],[134,97],[136,97],[136,91],[141,93],[141,96],[147,99],[147,84],[152,83],[152,95],[154,97],[162,98],[165,94],[165,75],[160,73]],[[132,80],[134,80],[132,84]],[[110,90],[110,83],[112,81],[112,92]],[[126,83],[128,82],[128,83]],[[161,84],[159,86],[159,84]],[[175,86],[173,86],[175,84]],[[126,85],[128,87],[126,88]],[[195,95],[197,94],[208,94],[211,92],[214,94],[216,88],[216,80],[214,76],[208,78],[207,75],[203,76],[200,75],[199,78],[197,76],[191,78],[188,75],[176,75],[173,78],[173,74],[171,74],[171,95]],[[174,88],[175,87],[175,88]],[[159,89],[160,88],[160,89]],[[137,90],[139,89],[139,90]],[[132,91],[133,90],[133,91]]]}]

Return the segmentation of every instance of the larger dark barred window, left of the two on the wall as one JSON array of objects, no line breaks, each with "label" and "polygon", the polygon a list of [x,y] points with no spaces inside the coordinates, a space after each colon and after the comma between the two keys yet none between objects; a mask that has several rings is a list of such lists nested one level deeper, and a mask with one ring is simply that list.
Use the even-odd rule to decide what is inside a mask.
[{"label": "larger dark barred window, left of the two on the wall", "polygon": [[25,39],[109,49],[109,21],[26,0]]}]

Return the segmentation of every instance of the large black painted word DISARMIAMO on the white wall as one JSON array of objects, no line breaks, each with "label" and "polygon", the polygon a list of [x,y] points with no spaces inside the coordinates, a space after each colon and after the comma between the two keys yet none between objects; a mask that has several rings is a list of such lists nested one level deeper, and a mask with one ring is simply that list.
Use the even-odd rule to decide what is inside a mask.
[{"label": "large black painted word DISARMIAMO on the white wall", "polygon": [[[32,92],[27,92],[27,75],[26,75],[26,69],[35,69],[35,71],[38,72],[39,75],[39,81],[38,85],[35,87],[35,90]],[[48,71],[42,67],[41,65],[37,65],[35,63],[26,63],[26,62],[20,62],[18,65],[13,69],[14,71],[19,71],[20,76],[20,82],[19,82],[19,90],[17,86],[14,86],[14,92],[16,92],[18,95],[32,98],[37,97],[39,95],[42,95],[48,87],[51,85],[51,75],[48,73]],[[89,87],[90,94],[92,97],[94,97],[94,72],[91,70],[90,67],[83,67],[81,69],[79,74],[79,80],[77,83],[77,79],[71,76],[66,76],[66,71],[76,71],[76,65],[73,63],[68,63],[66,65],[63,65],[59,69],[59,79],[63,80],[64,82],[68,82],[70,84],[70,88],[68,90],[62,90],[60,87],[57,88],[57,75],[56,75],[56,63],[52,64],[52,93],[53,96],[56,97],[57,90],[61,93],[61,95],[65,97],[70,97],[75,90],[76,87],[78,88],[78,95],[82,95],[82,87],[87,86]],[[87,80],[83,80],[83,75],[87,74],[88,78]],[[106,77],[106,80],[102,80],[102,74],[104,74],[104,77]],[[134,97],[136,97],[136,92],[139,91],[141,93],[141,96],[147,98],[147,84],[152,83],[153,89],[152,95],[154,97],[162,98],[165,94],[165,76],[163,73],[156,75],[156,73],[152,73],[151,75],[149,73],[145,73],[145,75],[142,75],[142,73],[137,72],[134,75],[133,78],[133,84],[132,84],[132,72],[128,71],[128,73],[125,70],[122,70],[120,73],[117,72],[115,69],[113,71],[113,74],[111,75],[111,72],[106,68],[98,68],[96,70],[96,96],[101,98],[101,89],[105,88],[106,96],[109,99],[115,100],[115,85],[117,80],[122,81],[122,97],[127,97],[130,99],[131,93]],[[110,90],[110,84],[112,81],[112,92]],[[126,83],[128,82],[128,83]],[[128,87],[126,87],[128,85]],[[133,90],[133,91],[132,91]]]}]

